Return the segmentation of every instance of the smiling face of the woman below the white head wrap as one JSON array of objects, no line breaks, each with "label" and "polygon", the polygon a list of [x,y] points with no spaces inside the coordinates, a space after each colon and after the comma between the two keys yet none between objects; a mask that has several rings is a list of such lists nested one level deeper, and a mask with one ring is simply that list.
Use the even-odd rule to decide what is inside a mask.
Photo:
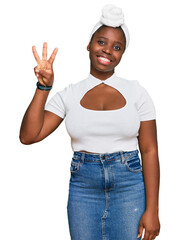
[{"label": "smiling face of the woman below the white head wrap", "polygon": [[103,26],[88,44],[91,74],[113,74],[125,50],[124,33],[119,28]]}]

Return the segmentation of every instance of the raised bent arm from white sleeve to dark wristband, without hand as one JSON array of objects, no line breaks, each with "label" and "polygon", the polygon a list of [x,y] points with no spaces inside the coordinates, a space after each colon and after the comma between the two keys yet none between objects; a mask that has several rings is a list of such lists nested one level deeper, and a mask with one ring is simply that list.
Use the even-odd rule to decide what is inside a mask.
[{"label": "raised bent arm from white sleeve to dark wristband, without hand", "polygon": [[41,141],[63,121],[63,118],[56,114],[44,111],[48,94],[49,91],[36,89],[22,120],[19,135],[21,143],[32,144]]}]

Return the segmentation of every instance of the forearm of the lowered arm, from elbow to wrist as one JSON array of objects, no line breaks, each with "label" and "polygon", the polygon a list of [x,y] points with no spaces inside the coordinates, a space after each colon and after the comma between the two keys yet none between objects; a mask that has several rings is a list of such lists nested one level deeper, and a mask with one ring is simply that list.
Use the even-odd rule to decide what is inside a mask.
[{"label": "forearm of the lowered arm, from elbow to wrist", "polygon": [[157,151],[142,153],[142,167],[146,191],[146,210],[158,212],[160,167]]}]

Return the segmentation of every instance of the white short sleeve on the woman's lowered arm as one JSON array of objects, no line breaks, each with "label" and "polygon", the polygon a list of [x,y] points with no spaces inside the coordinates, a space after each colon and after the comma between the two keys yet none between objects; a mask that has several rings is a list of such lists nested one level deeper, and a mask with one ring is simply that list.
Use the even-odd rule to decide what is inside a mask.
[{"label": "white short sleeve on the woman's lowered arm", "polygon": [[151,96],[149,95],[148,91],[143,86],[141,86],[141,84],[139,84],[138,81],[136,82],[139,92],[137,99],[137,110],[140,121],[156,119],[156,109]]}]

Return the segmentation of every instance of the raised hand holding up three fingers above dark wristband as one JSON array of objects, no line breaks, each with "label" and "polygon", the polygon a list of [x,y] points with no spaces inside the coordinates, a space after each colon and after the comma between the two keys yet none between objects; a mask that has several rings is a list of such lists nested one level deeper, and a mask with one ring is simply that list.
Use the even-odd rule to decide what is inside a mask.
[{"label": "raised hand holding up three fingers above dark wristband", "polygon": [[37,54],[35,46],[32,47],[32,51],[36,59],[36,62],[38,63],[38,65],[34,68],[34,72],[38,78],[38,81],[44,86],[52,86],[54,82],[54,72],[52,69],[52,64],[56,57],[58,48],[54,49],[49,60],[47,60],[47,43],[46,42],[43,43],[42,60]]}]

